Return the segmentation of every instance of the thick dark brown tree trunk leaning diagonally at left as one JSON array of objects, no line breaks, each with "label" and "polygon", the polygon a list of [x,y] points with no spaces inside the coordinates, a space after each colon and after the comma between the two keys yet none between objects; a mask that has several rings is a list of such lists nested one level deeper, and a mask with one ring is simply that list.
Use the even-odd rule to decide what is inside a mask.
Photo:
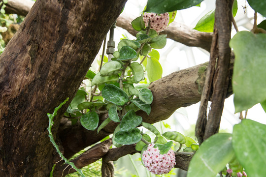
[{"label": "thick dark brown tree trunk leaning diagonally at left", "polygon": [[[37,0],[0,56],[0,177],[47,177],[47,113],[74,97],[126,0]],[[60,117],[54,119],[56,132]]]}]

